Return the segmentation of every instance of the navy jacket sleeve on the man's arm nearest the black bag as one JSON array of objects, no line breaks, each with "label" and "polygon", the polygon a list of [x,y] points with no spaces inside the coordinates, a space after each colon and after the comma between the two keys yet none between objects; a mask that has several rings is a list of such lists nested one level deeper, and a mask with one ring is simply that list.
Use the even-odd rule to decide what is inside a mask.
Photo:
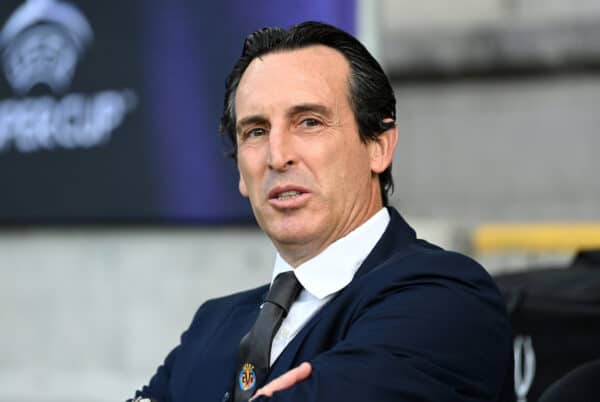
[{"label": "navy jacket sleeve on the man's arm nearest the black bag", "polygon": [[258,400],[514,400],[506,394],[513,366],[504,307],[480,291],[436,277],[390,284],[341,342],[311,360],[310,378]]}]

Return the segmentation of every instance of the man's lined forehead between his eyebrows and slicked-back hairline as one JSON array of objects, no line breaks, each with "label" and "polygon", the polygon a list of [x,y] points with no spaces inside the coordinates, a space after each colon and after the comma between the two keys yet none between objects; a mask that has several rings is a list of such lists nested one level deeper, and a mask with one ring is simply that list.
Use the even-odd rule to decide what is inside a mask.
[{"label": "man's lined forehead between his eyebrows and slicked-back hairline", "polygon": [[302,103],[349,104],[349,75],[344,55],[322,45],[257,57],[236,92],[237,118]]}]

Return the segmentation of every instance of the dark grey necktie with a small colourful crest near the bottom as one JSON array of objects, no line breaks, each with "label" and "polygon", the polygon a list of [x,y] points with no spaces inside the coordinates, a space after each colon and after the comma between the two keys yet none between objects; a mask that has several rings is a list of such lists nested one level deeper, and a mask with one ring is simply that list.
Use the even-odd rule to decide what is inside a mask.
[{"label": "dark grey necktie with a small colourful crest near the bottom", "polygon": [[269,374],[273,336],[301,289],[293,271],[283,272],[273,281],[254,326],[240,342],[233,391],[235,402],[247,401],[264,385]]}]

